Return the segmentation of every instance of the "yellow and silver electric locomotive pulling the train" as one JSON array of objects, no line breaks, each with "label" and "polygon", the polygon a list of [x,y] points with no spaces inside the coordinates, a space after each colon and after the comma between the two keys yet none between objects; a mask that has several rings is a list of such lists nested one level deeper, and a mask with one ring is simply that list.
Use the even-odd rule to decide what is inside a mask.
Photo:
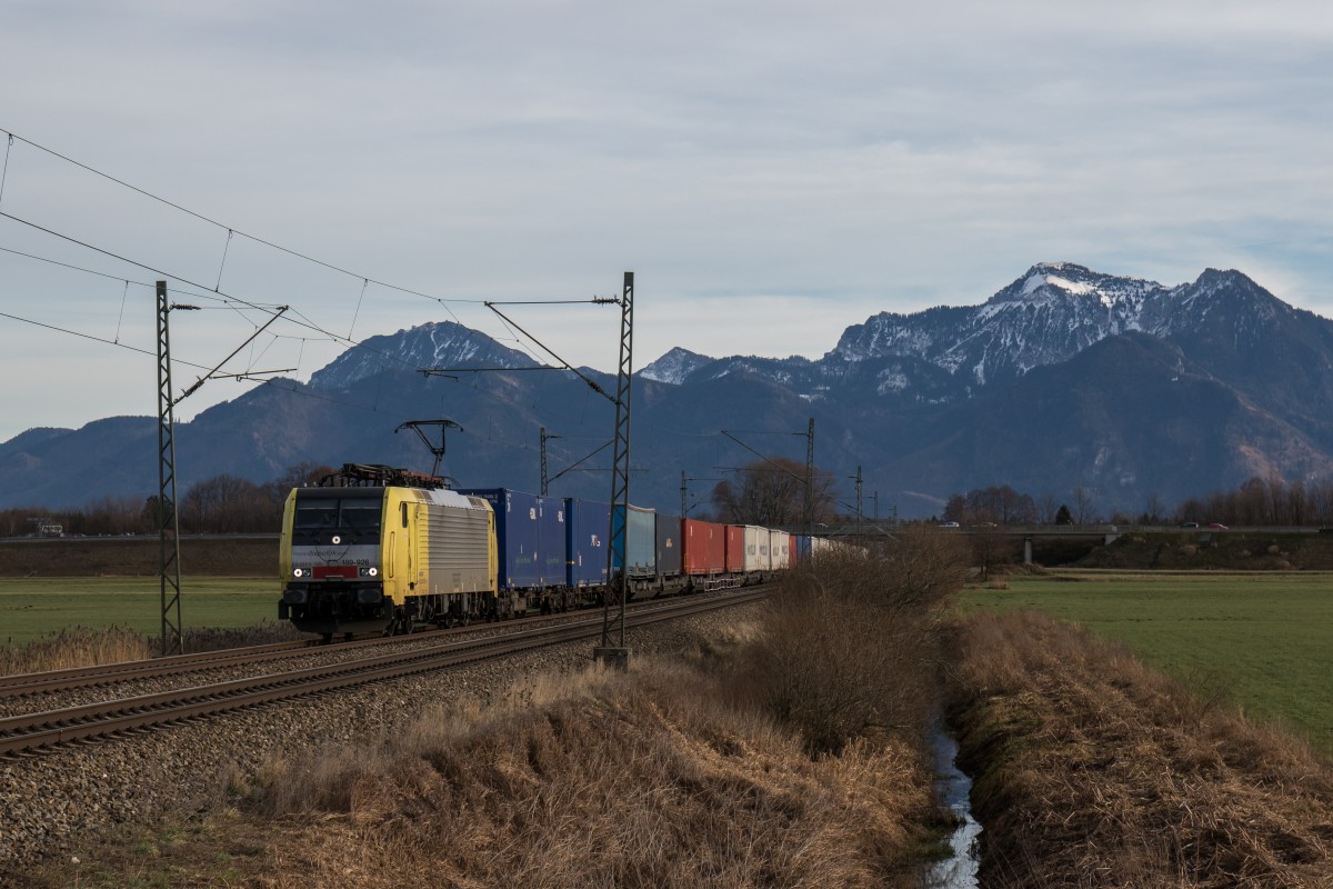
[{"label": "yellow and silver electric locomotive pulling the train", "polygon": [[345,464],[288,496],[281,572],[279,620],[325,641],[493,616],[495,513],[433,476]]}]

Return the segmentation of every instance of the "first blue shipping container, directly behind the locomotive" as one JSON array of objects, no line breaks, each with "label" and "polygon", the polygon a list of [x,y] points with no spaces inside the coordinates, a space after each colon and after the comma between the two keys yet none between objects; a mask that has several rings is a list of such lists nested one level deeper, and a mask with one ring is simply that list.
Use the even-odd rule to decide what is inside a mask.
[{"label": "first blue shipping container, directly behind the locomotive", "polygon": [[[508,488],[465,488],[459,493],[484,497],[495,510],[500,568],[496,582],[501,589],[541,589],[565,581],[561,509],[545,510],[537,494]],[[557,538],[552,564],[543,548]]]}]

